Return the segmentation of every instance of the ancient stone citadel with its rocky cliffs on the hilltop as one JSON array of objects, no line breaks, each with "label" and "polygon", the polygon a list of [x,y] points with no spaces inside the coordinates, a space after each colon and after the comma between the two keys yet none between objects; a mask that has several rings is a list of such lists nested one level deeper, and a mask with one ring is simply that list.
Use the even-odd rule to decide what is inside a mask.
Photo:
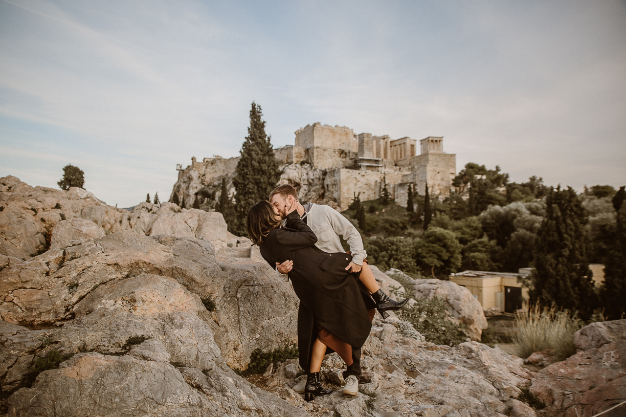
[{"label": "ancient stone citadel with its rocky cliffs on the hilltop", "polygon": [[[409,184],[424,194],[441,198],[449,195],[456,175],[456,155],[445,153],[443,136],[417,141],[407,137],[391,139],[388,135],[371,133],[355,135],[346,126],[321,123],[307,125],[295,131],[294,145],[274,150],[284,174],[280,183],[290,183],[299,190],[303,202],[326,203],[339,210],[347,208],[355,194],[361,200],[373,200],[387,190],[399,205],[406,206]],[[203,209],[211,209],[218,199],[222,178],[228,182],[239,157],[204,158],[187,168],[177,166],[178,181],[170,201],[192,207],[198,200]]]}]

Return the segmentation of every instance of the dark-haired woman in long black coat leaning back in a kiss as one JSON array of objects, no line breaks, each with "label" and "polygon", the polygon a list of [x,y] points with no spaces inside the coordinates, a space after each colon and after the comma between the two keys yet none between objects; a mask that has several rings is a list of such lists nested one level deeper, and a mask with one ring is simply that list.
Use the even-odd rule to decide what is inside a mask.
[{"label": "dark-haired woman in long black coat leaning back in a kiss", "polygon": [[[280,222],[280,215],[267,201],[255,204],[248,212],[250,239],[259,245],[270,267],[273,269],[276,262],[287,259],[293,261],[289,277],[300,299],[299,361],[307,372],[304,396],[310,401],[314,395],[331,392],[322,388],[319,378],[324,354],[337,351],[348,370],[355,349],[360,356],[376,304],[361,282],[346,271],[351,255],[329,254],[317,248],[316,235],[295,209],[287,214],[284,227],[279,227]],[[357,372],[360,373],[360,366]]]}]

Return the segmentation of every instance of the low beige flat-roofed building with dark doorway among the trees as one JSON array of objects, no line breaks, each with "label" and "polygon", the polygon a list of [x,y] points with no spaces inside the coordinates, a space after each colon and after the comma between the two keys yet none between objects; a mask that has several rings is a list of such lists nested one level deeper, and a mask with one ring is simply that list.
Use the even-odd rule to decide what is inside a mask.
[{"label": "low beige flat-roofed building with dark doorway among the trees", "polygon": [[478,299],[483,309],[496,307],[500,311],[514,313],[528,306],[528,288],[517,282],[519,275],[465,270],[450,275],[450,281],[466,287]]}]

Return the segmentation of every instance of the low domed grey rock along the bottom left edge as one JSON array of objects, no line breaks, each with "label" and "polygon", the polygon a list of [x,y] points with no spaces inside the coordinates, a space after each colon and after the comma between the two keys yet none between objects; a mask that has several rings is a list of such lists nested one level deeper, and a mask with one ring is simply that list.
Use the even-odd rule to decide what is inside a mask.
[{"label": "low domed grey rock along the bottom left edge", "polygon": [[277,396],[257,394],[230,371],[81,353],[44,371],[33,388],[9,398],[9,416],[305,416]]}]

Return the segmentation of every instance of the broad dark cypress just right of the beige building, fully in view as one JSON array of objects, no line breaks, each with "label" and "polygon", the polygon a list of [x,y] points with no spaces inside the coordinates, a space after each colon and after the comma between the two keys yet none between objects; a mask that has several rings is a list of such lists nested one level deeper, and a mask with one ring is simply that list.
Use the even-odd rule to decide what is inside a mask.
[{"label": "broad dark cypress just right of the beige building, fully in view", "polygon": [[585,223],[587,213],[572,188],[559,186],[550,191],[537,232],[531,303],[579,312],[583,319],[591,316],[596,296],[587,261]]}]

